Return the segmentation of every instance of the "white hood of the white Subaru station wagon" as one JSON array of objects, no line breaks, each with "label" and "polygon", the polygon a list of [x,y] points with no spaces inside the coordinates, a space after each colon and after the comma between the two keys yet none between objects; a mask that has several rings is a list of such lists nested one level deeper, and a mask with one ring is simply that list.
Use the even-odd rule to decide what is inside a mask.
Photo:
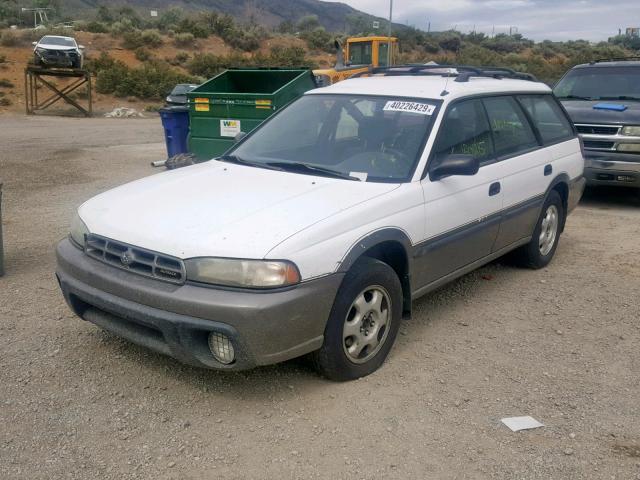
[{"label": "white hood of the white Subaru station wagon", "polygon": [[84,203],[92,233],[179,258],[264,258],[300,230],[398,185],[206,162]]}]

